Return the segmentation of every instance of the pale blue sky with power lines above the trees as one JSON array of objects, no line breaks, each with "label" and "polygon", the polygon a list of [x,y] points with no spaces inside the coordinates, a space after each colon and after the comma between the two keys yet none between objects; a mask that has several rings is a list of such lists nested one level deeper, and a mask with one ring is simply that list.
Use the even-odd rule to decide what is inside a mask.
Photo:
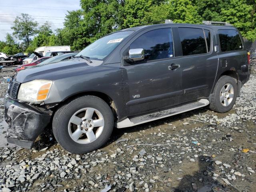
[{"label": "pale blue sky with power lines above the trees", "polygon": [[39,26],[49,21],[54,31],[63,27],[67,10],[77,9],[80,0],[0,0],[0,40],[5,41],[6,33],[13,32],[13,21],[21,13],[32,16]]}]

